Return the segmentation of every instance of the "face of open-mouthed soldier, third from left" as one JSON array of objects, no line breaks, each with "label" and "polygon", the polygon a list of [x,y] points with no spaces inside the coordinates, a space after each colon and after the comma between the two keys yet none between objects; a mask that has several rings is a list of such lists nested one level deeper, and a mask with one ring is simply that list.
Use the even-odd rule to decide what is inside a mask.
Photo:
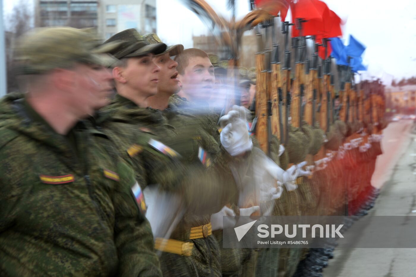
[{"label": "face of open-mouthed soldier, third from left", "polygon": [[159,82],[157,84],[158,92],[166,92],[168,94],[178,93],[179,86],[178,71],[176,67],[178,63],[169,56],[169,53],[154,56],[154,63],[160,68],[158,74]]}]

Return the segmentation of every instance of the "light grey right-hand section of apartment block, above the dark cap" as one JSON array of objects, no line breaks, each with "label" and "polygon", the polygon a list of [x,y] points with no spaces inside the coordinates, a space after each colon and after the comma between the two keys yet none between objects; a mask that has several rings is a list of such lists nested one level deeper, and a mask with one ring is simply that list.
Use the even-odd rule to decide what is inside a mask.
[{"label": "light grey right-hand section of apartment block, above the dark cap", "polygon": [[126,29],[157,33],[156,0],[100,0],[98,32],[108,39]]}]

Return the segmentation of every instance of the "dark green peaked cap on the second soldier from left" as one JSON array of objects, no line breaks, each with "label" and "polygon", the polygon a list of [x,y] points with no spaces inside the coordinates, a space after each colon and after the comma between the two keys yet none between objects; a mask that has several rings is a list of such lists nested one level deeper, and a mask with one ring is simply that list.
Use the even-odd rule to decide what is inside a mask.
[{"label": "dark green peaked cap on the second soldier from left", "polygon": [[104,45],[119,40],[124,43],[119,48],[110,52],[117,59],[139,57],[150,53],[158,55],[166,50],[166,44],[149,44],[136,29],[121,31],[106,40]]}]

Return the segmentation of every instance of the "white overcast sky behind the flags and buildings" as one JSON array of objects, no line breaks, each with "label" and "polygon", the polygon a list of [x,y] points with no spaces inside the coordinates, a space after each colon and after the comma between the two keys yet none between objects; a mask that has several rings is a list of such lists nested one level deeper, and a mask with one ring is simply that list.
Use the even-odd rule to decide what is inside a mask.
[{"label": "white overcast sky behind the flags and buildings", "polygon": [[[192,35],[208,35],[201,20],[180,0],[157,1],[158,35],[168,44],[182,43],[192,47]],[[5,13],[18,0],[3,0]],[[140,2],[140,0],[138,0]],[[213,9],[229,18],[227,0],[206,0]],[[364,64],[369,74],[389,79],[416,76],[416,1],[414,0],[324,0],[346,24],[343,38],[352,34],[366,45]],[[236,17],[248,13],[248,0],[235,0]],[[348,42],[348,41],[347,41]]]}]

